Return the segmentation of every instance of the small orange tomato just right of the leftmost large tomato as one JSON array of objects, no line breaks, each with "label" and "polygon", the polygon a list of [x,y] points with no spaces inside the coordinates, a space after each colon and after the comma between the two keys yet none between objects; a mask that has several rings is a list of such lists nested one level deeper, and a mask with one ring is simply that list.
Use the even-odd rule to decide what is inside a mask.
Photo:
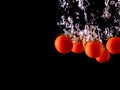
[{"label": "small orange tomato just right of the leftmost large tomato", "polygon": [[75,42],[73,44],[72,52],[73,53],[81,53],[84,50],[82,42]]}]

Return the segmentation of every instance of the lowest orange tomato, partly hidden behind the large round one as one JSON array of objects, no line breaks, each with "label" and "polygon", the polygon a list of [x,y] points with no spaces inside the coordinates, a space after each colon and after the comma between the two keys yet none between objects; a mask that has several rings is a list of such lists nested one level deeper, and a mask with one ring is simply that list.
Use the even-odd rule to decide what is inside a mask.
[{"label": "lowest orange tomato, partly hidden behind the large round one", "polygon": [[99,63],[106,63],[110,59],[110,53],[107,50],[104,50],[104,52],[96,58],[97,62]]}]

